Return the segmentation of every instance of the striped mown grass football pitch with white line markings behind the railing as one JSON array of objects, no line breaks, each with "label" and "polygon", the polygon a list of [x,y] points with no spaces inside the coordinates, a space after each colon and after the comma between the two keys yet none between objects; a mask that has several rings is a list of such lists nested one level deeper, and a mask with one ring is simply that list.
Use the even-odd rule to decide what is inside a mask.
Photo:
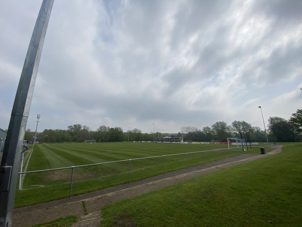
[{"label": "striped mown grass football pitch with white line markings behind the railing", "polygon": [[[245,147],[244,153],[260,153],[261,145],[264,144],[252,147],[253,149],[248,147],[248,150]],[[25,155],[23,171],[82,166],[74,168],[72,180],[72,196],[74,196],[128,183],[129,176],[130,181],[137,181],[163,174],[164,171],[174,171],[243,153],[236,147],[231,150],[227,148],[228,146],[224,144],[36,144],[34,150]],[[266,148],[266,152],[270,150]],[[140,159],[146,157],[153,158]],[[119,162],[110,163],[114,161]],[[85,166],[97,163],[106,164]],[[16,192],[15,207],[68,197],[71,172],[72,169],[69,168],[23,174],[21,190]]]}]

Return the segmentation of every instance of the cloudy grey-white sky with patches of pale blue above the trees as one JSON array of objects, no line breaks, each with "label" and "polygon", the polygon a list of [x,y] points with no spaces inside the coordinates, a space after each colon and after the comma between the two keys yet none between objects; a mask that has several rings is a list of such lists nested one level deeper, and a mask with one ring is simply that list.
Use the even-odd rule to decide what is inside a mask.
[{"label": "cloudy grey-white sky with patches of pale blue above the trees", "polygon": [[[41,3],[0,3],[4,130]],[[264,130],[259,106],[265,126],[288,120],[302,108],[301,12],[301,0],[55,0],[26,128],[40,114],[40,132],[234,120]]]}]

